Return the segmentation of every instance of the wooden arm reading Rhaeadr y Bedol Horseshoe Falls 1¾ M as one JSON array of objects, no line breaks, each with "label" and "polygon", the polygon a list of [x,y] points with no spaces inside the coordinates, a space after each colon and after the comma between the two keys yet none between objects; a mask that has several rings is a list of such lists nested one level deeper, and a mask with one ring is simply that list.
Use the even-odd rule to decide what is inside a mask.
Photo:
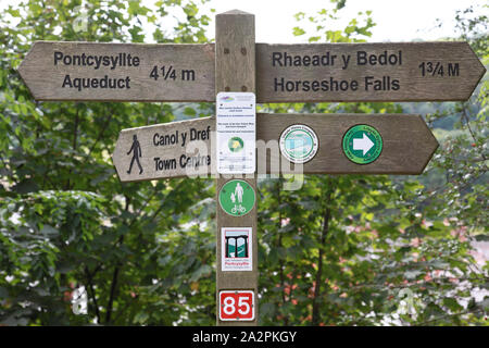
[{"label": "wooden arm reading Rhaeadr y Bedol Horseshoe Falls 1\u00be M", "polygon": [[[363,53],[359,58],[359,52],[365,52],[369,62],[371,55],[375,60],[375,65],[364,63]],[[276,60],[274,61],[274,52]],[[289,57],[299,57],[302,66],[293,66],[294,59],[291,59],[292,66],[279,66],[285,62],[285,52]],[[380,55],[387,52],[387,58],[396,64],[380,64]],[[280,58],[281,54],[281,60]],[[329,59],[326,59],[329,54]],[[312,61],[309,66],[304,66],[309,59],[314,55],[325,57],[324,63],[327,65],[313,66]],[[333,55],[335,60],[333,62]],[[400,55],[400,57],[399,57]],[[343,57],[349,59],[349,64],[344,65]],[[275,62],[275,66],[274,66]],[[422,76],[419,65],[425,63],[425,75]],[[384,63],[384,59],[383,62]],[[428,65],[431,64],[431,65]],[[439,64],[439,65],[437,65]],[[449,66],[451,65],[451,69]],[[455,65],[459,64],[457,70]],[[344,67],[347,66],[347,67]],[[429,69],[431,66],[431,71]],[[438,67],[437,67],[438,66]],[[442,70],[442,75],[440,71]],[[443,101],[443,100],[467,100],[486,69],[472,51],[467,42],[401,42],[401,44],[304,44],[304,45],[256,45],[256,71],[258,102],[285,102],[285,101]],[[451,76],[450,76],[451,75]],[[457,75],[457,76],[455,76]],[[375,90],[374,85],[365,88],[365,77],[371,76],[371,83],[381,82],[383,90]],[[329,84],[330,77],[336,80],[346,80],[351,85],[352,80],[358,80],[356,90],[317,90],[313,91],[310,86],[309,91],[302,90],[303,82],[326,82]],[[383,77],[386,77],[383,80]],[[389,77],[389,80],[387,80]],[[291,87],[294,83],[301,82],[299,91],[287,91],[279,87],[275,88],[275,78],[289,83]],[[394,90],[393,80],[399,85]],[[389,82],[389,84],[387,84]],[[292,85],[291,85],[292,84]],[[390,88],[385,88],[389,85]]]}]

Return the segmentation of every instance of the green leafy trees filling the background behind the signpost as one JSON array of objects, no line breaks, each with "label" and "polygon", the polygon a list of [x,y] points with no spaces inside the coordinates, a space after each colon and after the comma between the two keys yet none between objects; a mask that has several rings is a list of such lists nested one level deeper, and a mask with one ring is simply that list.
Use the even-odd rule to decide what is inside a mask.
[{"label": "green leafy trees filling the background behind the signpost", "polygon": [[[28,0],[1,14],[0,325],[214,325],[213,179],[122,184],[110,158],[121,129],[214,105],[37,102],[16,71],[35,40],[208,42],[204,2]],[[367,40],[368,11],[335,25],[346,5],[298,13],[293,35]],[[460,37],[442,39],[467,40],[487,66],[479,10],[459,11]],[[421,113],[440,142],[419,176],[308,175],[296,191],[260,181],[260,324],[488,325],[488,87],[466,102],[259,105]],[[82,286],[87,313],[75,314]]]}]

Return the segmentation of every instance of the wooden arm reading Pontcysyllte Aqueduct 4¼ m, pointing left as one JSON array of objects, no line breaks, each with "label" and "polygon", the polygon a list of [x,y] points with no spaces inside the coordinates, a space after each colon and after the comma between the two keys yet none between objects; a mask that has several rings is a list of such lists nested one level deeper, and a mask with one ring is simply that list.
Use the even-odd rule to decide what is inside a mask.
[{"label": "wooden arm reading Pontcysyllte Aqueduct 4\u00bc m, pointing left", "polygon": [[36,100],[214,101],[213,45],[37,41],[18,67]]}]

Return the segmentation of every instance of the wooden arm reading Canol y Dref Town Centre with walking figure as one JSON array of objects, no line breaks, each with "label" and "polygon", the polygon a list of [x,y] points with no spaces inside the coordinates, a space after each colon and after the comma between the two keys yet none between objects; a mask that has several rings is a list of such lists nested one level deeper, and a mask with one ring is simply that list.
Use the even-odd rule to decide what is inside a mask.
[{"label": "wooden arm reading Canol y Dref Town Centre with walking figure", "polygon": [[121,130],[112,161],[122,182],[209,175],[213,117]]}]

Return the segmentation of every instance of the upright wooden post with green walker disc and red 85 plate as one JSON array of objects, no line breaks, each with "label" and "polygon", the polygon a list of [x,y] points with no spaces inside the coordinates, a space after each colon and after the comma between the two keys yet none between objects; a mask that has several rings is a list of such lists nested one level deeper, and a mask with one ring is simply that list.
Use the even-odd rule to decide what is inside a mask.
[{"label": "upright wooden post with green walker disc and red 85 plate", "polygon": [[[255,45],[254,15],[241,11],[229,11],[216,15],[215,25],[215,92],[255,92]],[[239,95],[236,95],[238,97]],[[217,100],[220,102],[220,100]],[[217,107],[218,108],[218,107]],[[252,103],[254,109],[254,102]],[[255,113],[255,111],[252,111]],[[249,119],[249,117],[247,117]],[[217,120],[217,119],[216,119]],[[216,125],[216,128],[220,125]],[[231,134],[233,135],[233,134]],[[251,139],[255,140],[255,139]],[[221,147],[217,144],[216,147]],[[220,154],[217,154],[220,156]],[[252,159],[255,160],[254,157]],[[223,294],[235,291],[248,294],[249,308],[246,313],[236,315],[234,321],[225,321],[225,316],[216,315],[217,325],[258,325],[258,189],[254,171],[243,179],[229,179],[217,175],[216,200],[216,312],[226,313],[226,299]],[[237,209],[236,209],[237,208]],[[249,228],[251,232],[252,264],[250,271],[226,271],[222,265],[222,229],[229,227]],[[238,302],[238,311],[239,302]],[[253,315],[249,316],[249,311]],[[238,313],[239,314],[239,313]],[[247,319],[243,321],[243,319]]]}]

